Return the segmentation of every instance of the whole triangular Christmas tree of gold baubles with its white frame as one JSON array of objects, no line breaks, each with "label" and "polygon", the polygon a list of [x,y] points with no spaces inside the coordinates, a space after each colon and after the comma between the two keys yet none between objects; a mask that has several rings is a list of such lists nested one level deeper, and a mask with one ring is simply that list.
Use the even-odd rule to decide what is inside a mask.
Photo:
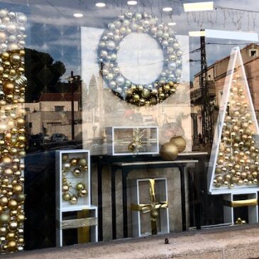
[{"label": "whole triangular Christmas tree of gold baubles with its white frame", "polygon": [[211,194],[244,194],[259,183],[258,121],[239,48],[233,48],[209,162]]}]

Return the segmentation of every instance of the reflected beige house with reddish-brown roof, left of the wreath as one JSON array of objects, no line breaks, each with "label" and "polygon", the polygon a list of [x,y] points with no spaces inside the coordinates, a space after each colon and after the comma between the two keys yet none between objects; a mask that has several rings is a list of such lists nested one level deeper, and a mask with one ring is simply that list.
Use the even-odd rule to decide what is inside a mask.
[{"label": "reflected beige house with reddish-brown roof, left of the wreath", "polygon": [[[75,94],[75,137],[81,137],[81,114],[79,111],[79,94]],[[71,139],[71,94],[43,93],[38,102],[26,103],[25,109],[28,133],[38,134],[46,128],[47,134],[63,133]]]}]

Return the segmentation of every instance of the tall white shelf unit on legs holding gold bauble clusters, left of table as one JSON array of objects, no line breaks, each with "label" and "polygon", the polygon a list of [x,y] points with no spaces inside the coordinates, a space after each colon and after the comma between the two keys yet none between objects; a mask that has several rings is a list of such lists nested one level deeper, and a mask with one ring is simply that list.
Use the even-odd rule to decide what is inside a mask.
[{"label": "tall white shelf unit on legs holding gold bauble clusters, left of table", "polygon": [[[62,155],[68,155],[67,161],[62,161]],[[79,176],[74,176],[72,171],[79,167],[74,165],[69,171],[66,172],[67,181],[75,184],[76,182],[83,182],[87,189],[87,196],[79,197],[77,204],[70,204],[62,199],[62,167],[65,162],[69,162],[72,158],[87,160],[87,170],[82,170]],[[75,192],[75,190],[73,191]],[[56,151],[56,245],[63,246],[64,228],[62,225],[67,221],[66,214],[68,212],[75,212],[72,219],[77,219],[77,214],[80,211],[88,211],[87,218],[95,222],[90,228],[90,241],[98,241],[98,226],[97,226],[97,206],[91,204],[91,168],[90,168],[90,151],[89,150],[60,150]],[[85,219],[87,219],[85,218]],[[68,221],[67,221],[68,222]],[[77,228],[77,227],[70,227]],[[82,228],[82,227],[79,227]]]}]

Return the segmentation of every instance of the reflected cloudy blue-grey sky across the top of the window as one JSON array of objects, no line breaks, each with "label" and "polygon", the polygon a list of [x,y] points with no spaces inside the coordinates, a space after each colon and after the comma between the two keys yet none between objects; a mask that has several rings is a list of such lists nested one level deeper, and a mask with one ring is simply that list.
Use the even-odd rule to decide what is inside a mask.
[{"label": "reflected cloudy blue-grey sky across the top of the window", "polygon": [[[177,23],[175,30],[177,34],[187,35],[188,31],[197,31],[200,28],[221,29],[227,31],[259,31],[258,18],[255,13],[246,13],[235,10],[224,10],[217,8],[214,11],[204,11],[195,13],[184,13],[182,1],[139,1],[142,4],[131,7],[131,11],[153,11],[160,19],[161,3],[172,5],[174,11],[172,19]],[[149,3],[154,3],[152,8]],[[55,60],[61,60],[67,67],[66,74],[70,70],[75,73],[80,71],[79,28],[87,26],[92,28],[106,28],[107,24],[114,21],[117,15],[128,11],[126,1],[107,0],[107,7],[97,9],[94,6],[94,0],[2,0],[1,6],[8,7],[13,11],[23,11],[28,13],[28,25],[32,36],[28,37],[29,48],[48,52]],[[123,4],[121,4],[123,3]],[[238,9],[259,10],[259,1],[253,0],[216,0],[216,6],[228,6]],[[84,18],[78,19],[72,16],[72,13],[82,12]],[[240,18],[240,19],[239,19]],[[239,21],[240,20],[240,21]],[[162,21],[165,23],[171,21],[167,13],[162,13]],[[37,23],[38,25],[35,25]],[[45,26],[40,28],[40,24]],[[39,34],[39,35],[38,35]],[[43,37],[43,36],[44,37]],[[215,39],[206,39],[206,43],[216,43]],[[206,45],[208,65],[216,60],[229,55],[231,48],[236,45],[234,41],[221,40],[221,45]],[[246,39],[244,39],[246,43]],[[233,45],[231,45],[233,44]],[[244,45],[240,45],[241,48]],[[199,38],[190,39],[190,50],[199,48]],[[191,53],[190,59],[200,60],[200,53]],[[191,77],[199,72],[199,62],[191,63]]]}]

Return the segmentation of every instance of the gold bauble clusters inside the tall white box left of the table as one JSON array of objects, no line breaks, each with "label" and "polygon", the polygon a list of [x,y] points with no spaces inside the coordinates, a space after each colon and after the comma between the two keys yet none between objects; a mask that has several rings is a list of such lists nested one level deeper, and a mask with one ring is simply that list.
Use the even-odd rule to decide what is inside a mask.
[{"label": "gold bauble clusters inside the tall white box left of the table", "polygon": [[[86,197],[88,192],[84,182],[75,181],[77,177],[88,170],[87,159],[71,158],[68,154],[62,155],[62,200],[74,205],[77,204],[80,197]],[[67,175],[72,174],[71,181],[67,179]]]}]

